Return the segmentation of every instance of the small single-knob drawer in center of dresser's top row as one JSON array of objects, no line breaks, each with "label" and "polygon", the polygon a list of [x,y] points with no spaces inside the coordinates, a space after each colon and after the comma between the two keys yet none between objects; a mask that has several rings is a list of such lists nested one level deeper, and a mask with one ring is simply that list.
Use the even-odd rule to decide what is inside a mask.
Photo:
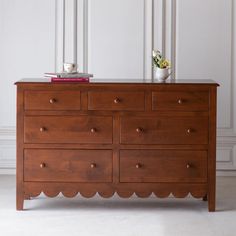
[{"label": "small single-knob drawer in center of dresser's top row", "polygon": [[144,92],[89,92],[89,110],[143,111]]}]

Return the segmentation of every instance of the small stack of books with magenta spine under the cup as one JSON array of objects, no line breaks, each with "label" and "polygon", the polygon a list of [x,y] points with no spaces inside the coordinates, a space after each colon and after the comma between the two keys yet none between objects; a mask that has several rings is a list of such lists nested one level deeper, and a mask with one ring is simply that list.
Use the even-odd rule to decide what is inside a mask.
[{"label": "small stack of books with magenta spine under the cup", "polygon": [[92,74],[80,72],[61,72],[61,73],[44,73],[44,77],[51,78],[51,82],[89,82]]}]

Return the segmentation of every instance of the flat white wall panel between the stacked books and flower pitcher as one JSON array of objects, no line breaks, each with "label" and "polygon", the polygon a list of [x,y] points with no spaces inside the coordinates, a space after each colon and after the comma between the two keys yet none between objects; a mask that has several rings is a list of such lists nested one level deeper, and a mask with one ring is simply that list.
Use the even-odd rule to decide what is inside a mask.
[{"label": "flat white wall panel between the stacked books and flower pitcher", "polygon": [[[87,4],[84,14],[88,15],[88,37],[87,45],[86,40],[84,44],[88,50],[89,72],[97,78],[150,78],[153,0],[122,0],[113,3],[102,0],[100,4],[96,0],[89,0]],[[134,4],[136,8],[132,6]],[[130,39],[127,38],[129,32]],[[113,51],[115,57],[114,63],[111,63]],[[123,55],[125,52],[126,57]],[[104,65],[101,65],[100,55],[104,56]],[[123,70],[116,70],[115,65]]]}]

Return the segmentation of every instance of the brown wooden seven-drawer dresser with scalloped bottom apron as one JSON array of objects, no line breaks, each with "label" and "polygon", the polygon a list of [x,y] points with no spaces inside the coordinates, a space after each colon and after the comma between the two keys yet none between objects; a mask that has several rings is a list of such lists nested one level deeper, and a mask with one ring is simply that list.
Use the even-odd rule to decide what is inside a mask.
[{"label": "brown wooden seven-drawer dresser with scalloped bottom apron", "polygon": [[215,211],[216,88],[182,80],[17,85],[17,210],[44,192],[193,197]]}]

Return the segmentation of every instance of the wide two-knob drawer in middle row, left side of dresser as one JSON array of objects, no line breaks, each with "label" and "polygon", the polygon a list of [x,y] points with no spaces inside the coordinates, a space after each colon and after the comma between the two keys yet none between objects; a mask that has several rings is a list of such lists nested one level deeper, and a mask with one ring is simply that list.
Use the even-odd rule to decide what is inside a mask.
[{"label": "wide two-knob drawer in middle row, left side of dresser", "polygon": [[112,143],[110,116],[26,116],[25,143]]}]

